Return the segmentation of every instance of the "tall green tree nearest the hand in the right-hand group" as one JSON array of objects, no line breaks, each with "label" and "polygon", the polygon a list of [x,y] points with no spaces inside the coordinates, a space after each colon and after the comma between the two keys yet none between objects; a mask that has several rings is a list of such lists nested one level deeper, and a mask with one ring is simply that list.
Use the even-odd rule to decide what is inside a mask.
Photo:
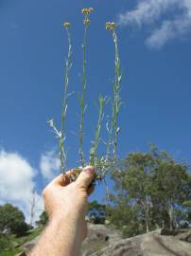
[{"label": "tall green tree nearest the hand in the right-hand group", "polygon": [[152,176],[155,168],[154,157],[150,154],[132,153],[123,162],[121,174],[113,173],[115,190],[129,198],[129,205],[139,209],[139,219],[150,226],[152,209]]}]

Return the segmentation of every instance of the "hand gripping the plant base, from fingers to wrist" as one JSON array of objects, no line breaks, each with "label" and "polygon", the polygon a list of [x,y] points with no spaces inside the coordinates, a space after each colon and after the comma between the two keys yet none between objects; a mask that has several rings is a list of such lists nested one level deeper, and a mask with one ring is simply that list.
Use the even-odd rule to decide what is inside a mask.
[{"label": "hand gripping the plant base, from fingers to wrist", "polygon": [[75,175],[75,171],[61,174],[47,185],[43,190],[44,206],[50,222],[61,221],[76,225],[83,240],[87,233],[87,197],[94,191],[90,184],[95,177],[95,171],[91,166],[85,167],[74,182],[70,182],[71,175]]}]

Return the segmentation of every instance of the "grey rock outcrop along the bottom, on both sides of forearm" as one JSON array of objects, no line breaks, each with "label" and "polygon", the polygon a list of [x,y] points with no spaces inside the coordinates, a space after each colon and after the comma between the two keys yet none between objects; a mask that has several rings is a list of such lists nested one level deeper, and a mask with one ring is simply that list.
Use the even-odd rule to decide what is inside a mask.
[{"label": "grey rock outcrop along the bottom, on both sides of forearm", "polygon": [[[164,230],[149,232],[122,239],[116,229],[104,225],[88,225],[88,236],[83,243],[82,256],[191,256],[191,230],[167,233]],[[39,237],[24,245],[28,255]]]}]

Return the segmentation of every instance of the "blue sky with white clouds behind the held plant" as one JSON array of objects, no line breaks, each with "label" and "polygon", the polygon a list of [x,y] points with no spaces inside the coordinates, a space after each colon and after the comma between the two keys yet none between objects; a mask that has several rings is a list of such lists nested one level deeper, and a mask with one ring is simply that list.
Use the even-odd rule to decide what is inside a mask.
[{"label": "blue sky with white clouds behind the held plant", "polygon": [[[64,21],[72,23],[70,91],[75,91],[69,100],[67,119],[69,166],[78,165],[78,140],[71,131],[78,129],[83,31],[80,9],[84,7],[95,9],[88,34],[85,150],[94,135],[95,100],[100,92],[110,95],[112,90],[113,42],[105,30],[105,22],[111,20],[118,24],[124,68],[119,155],[148,151],[148,143],[152,142],[178,160],[191,161],[189,0],[1,0],[1,203],[13,202],[28,210],[25,204],[32,188],[36,187],[40,197],[48,177],[58,174],[57,141],[47,120],[54,118],[60,124],[63,61],[67,53]],[[16,181],[9,178],[10,174]],[[21,174],[26,174],[26,181],[18,178]],[[11,195],[19,185],[22,187],[22,182],[29,186],[20,189],[17,196]],[[5,192],[8,185],[11,192]],[[27,196],[23,198],[22,194]],[[101,200],[104,196],[105,187],[101,185],[92,198]]]}]

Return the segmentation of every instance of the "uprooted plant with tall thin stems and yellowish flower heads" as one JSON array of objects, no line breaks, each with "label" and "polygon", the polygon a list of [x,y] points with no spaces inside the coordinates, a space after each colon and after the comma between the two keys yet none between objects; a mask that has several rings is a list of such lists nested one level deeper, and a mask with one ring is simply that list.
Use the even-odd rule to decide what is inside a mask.
[{"label": "uprooted plant with tall thin stems and yellowish flower heads", "polygon": [[[94,11],[93,8],[85,8],[81,9],[81,13],[84,16],[83,25],[84,25],[84,35],[82,40],[82,77],[81,77],[81,92],[79,94],[79,124],[78,124],[78,155],[80,167],[75,168],[76,177],[82,170],[82,168],[86,165],[92,165],[96,169],[96,180],[102,180],[105,177],[106,172],[114,167],[117,161],[117,137],[120,132],[118,126],[118,116],[121,106],[120,99],[120,90],[121,90],[121,80],[122,80],[122,72],[119,60],[119,50],[118,50],[118,42],[117,35],[115,29],[115,23],[107,22],[106,29],[109,30],[113,37],[113,45],[114,45],[114,81],[113,81],[113,96],[110,99],[111,101],[111,113],[107,113],[107,116],[110,119],[104,119],[104,106],[108,102],[108,97],[103,97],[101,94],[98,98],[98,117],[96,123],[96,132],[95,137],[92,139],[92,145],[89,150],[89,155],[86,157],[83,152],[83,143],[84,143],[84,115],[86,111],[86,90],[87,90],[87,77],[86,77],[86,64],[87,64],[87,33],[90,27],[90,14]],[[65,22],[63,27],[66,29],[67,38],[68,38],[68,54],[67,59],[64,64],[64,94],[62,101],[62,110],[61,110],[61,129],[56,127],[56,124],[53,119],[49,120],[50,126],[53,128],[56,136],[59,140],[60,147],[60,160],[61,160],[61,172],[64,174],[67,166],[67,154],[68,151],[66,149],[66,130],[65,130],[65,122],[66,122],[66,114],[68,109],[68,97],[70,95],[69,88],[69,71],[72,63],[72,51],[71,51],[71,36],[69,28],[71,27],[71,23]],[[103,125],[104,121],[106,122]],[[101,132],[103,126],[106,127],[108,133],[108,140],[104,141],[105,154],[98,155],[98,147],[101,139]],[[102,151],[104,152],[104,151]],[[73,177],[74,179],[76,177]]]}]

